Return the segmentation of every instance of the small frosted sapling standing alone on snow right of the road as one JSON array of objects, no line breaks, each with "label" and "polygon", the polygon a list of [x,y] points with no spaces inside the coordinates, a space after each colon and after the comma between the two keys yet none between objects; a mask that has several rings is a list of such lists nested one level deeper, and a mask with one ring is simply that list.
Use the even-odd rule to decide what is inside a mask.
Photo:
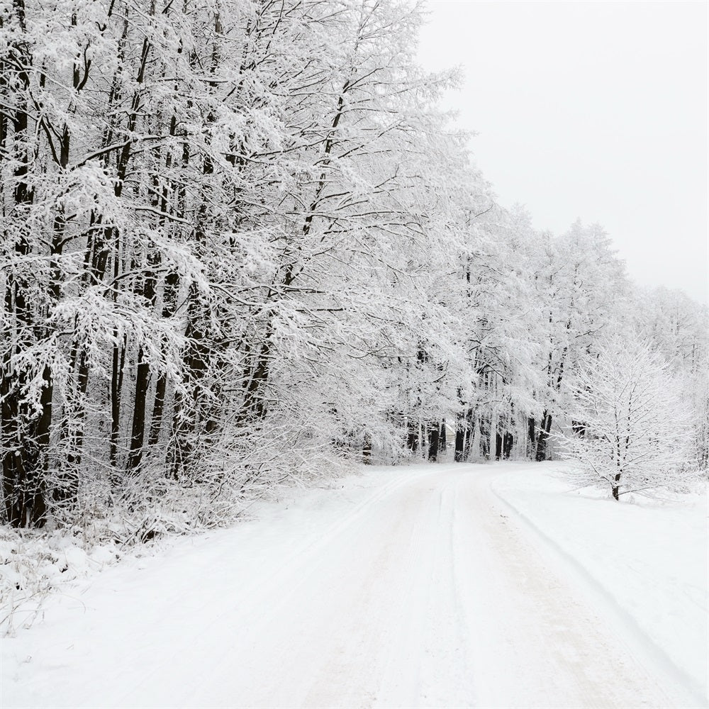
[{"label": "small frosted sapling standing alone on snow right of the road", "polygon": [[584,481],[623,493],[678,481],[691,428],[669,366],[644,343],[615,336],[582,367],[572,418],[583,422],[561,438],[562,456]]}]

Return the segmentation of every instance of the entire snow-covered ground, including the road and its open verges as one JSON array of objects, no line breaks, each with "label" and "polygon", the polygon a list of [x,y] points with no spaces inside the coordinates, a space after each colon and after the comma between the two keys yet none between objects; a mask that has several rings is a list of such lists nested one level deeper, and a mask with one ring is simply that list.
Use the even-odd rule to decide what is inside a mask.
[{"label": "entire snow-covered ground, including the road and its open verges", "polygon": [[372,469],[74,582],[0,706],[705,706],[704,498],[539,464]]}]

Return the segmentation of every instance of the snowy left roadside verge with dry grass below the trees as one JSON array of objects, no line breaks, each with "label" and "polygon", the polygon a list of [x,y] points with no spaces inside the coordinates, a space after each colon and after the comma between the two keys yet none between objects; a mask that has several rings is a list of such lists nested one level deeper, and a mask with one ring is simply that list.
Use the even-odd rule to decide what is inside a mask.
[{"label": "snowy left roadside verge with dry grass below the trees", "polygon": [[[233,517],[242,522],[258,516],[260,530],[267,530],[267,538],[277,540],[283,525],[291,525],[290,533],[299,530],[294,544],[317,536],[323,515],[335,524],[348,509],[367,496],[372,486],[388,481],[396,484],[411,471],[403,468],[370,467],[362,475],[350,475],[344,481],[326,478],[315,488],[281,485],[261,493],[260,498],[243,501]],[[319,510],[319,514],[318,514]],[[84,530],[14,530],[0,527],[0,637],[13,636],[20,629],[28,629],[43,617],[45,609],[56,605],[61,596],[84,593],[94,576],[106,566],[123,562],[121,574],[145,566],[145,559],[155,554],[167,554],[171,547],[191,549],[194,545],[211,545],[214,530],[184,524],[172,526],[162,518],[152,520],[149,527],[133,527],[123,520],[111,523],[98,520]],[[293,526],[294,525],[294,526]],[[156,530],[150,541],[143,530]],[[222,530],[229,535],[233,532]],[[243,530],[245,531],[245,530]],[[186,533],[187,532],[187,533]],[[194,532],[190,534],[189,532]],[[301,536],[302,535],[302,536]],[[314,538],[311,540],[314,542]],[[130,563],[132,560],[133,563]]]}]

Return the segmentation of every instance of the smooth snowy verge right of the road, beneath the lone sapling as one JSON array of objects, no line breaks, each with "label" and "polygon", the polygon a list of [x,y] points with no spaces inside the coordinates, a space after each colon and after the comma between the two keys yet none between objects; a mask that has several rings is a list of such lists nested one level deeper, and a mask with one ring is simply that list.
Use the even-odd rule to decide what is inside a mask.
[{"label": "smooth snowy verge right of the road, beneath the lone sapling", "polygon": [[[507,468],[507,469],[506,469]],[[634,633],[654,660],[707,696],[708,496],[616,502],[574,490],[564,464],[499,466],[493,491],[556,550],[557,561]],[[644,637],[643,637],[644,636]]]}]

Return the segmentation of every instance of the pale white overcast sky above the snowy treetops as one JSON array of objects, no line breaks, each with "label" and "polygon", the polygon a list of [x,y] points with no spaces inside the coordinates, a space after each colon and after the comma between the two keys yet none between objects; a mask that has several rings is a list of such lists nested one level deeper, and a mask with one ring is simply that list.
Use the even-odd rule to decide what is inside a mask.
[{"label": "pale white overcast sky above the snowy treetops", "polygon": [[708,4],[429,0],[428,69],[536,228],[599,222],[640,284],[708,299]]}]

